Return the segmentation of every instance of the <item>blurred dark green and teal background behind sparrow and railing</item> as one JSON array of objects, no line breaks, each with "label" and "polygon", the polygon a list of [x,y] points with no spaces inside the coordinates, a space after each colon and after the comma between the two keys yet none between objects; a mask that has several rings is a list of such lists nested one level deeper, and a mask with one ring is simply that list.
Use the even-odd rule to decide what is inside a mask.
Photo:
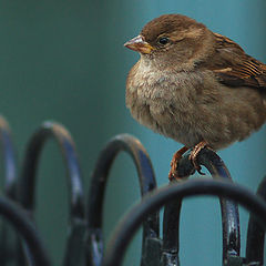
[{"label": "blurred dark green and teal background behind sparrow and railing", "polygon": [[[45,120],[66,126],[76,143],[85,192],[100,150],[119,133],[130,133],[146,147],[158,186],[178,143],[139,125],[125,108],[125,79],[139,55],[123,47],[142,27],[163,13],[182,13],[238,42],[266,62],[265,0],[0,0],[0,110],[9,120],[18,158]],[[266,173],[265,126],[243,143],[219,152],[235,182],[252,191]],[[37,222],[54,265],[63,257],[68,232],[63,162],[54,142],[45,145],[38,176]],[[106,200],[106,239],[121,215],[137,200],[136,172],[119,155]],[[52,206],[52,207],[51,207]],[[242,254],[247,213],[242,209]],[[181,264],[221,265],[218,201],[185,201],[181,223]],[[135,237],[124,265],[139,265]]]}]

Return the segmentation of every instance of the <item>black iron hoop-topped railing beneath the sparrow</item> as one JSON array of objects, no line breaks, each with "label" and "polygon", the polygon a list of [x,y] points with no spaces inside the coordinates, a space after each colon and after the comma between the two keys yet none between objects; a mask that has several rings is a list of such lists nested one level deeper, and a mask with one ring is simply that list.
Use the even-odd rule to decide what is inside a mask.
[{"label": "black iron hoop-topped railing beneath the sparrow", "polygon": [[[178,266],[180,215],[182,201],[195,195],[219,197],[223,228],[223,265],[264,265],[264,235],[266,228],[266,177],[257,195],[235,185],[219,156],[212,150],[200,152],[198,164],[204,165],[212,178],[187,180],[194,167],[186,154],[178,164],[182,181],[156,187],[150,157],[135,137],[121,134],[112,139],[101,151],[91,177],[89,195],[84,198],[79,160],[74,142],[60,124],[47,122],[31,136],[24,155],[21,175],[17,163],[10,130],[0,117],[0,140],[4,161],[4,195],[0,196],[0,215],[7,223],[0,228],[0,265],[50,266],[40,233],[34,225],[34,202],[39,157],[48,139],[55,139],[66,167],[69,191],[70,233],[62,262],[64,266],[119,266],[133,235],[143,226],[141,266]],[[113,231],[103,250],[103,206],[110,170],[120,152],[126,152],[137,170],[142,200],[133,206]],[[250,212],[246,256],[241,257],[238,204]],[[163,236],[160,237],[160,208],[164,207]],[[10,228],[18,234],[10,243]]]}]

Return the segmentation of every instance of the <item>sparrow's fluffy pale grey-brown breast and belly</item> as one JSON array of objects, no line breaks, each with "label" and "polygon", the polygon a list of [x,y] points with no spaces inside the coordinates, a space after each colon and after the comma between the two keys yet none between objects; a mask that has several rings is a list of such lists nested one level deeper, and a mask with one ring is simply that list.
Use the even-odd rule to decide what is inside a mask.
[{"label": "sparrow's fluffy pale grey-brown breast and belly", "polygon": [[225,147],[266,120],[258,90],[225,86],[211,71],[154,70],[142,60],[129,74],[126,106],[141,124],[188,147],[203,140],[215,150]]}]

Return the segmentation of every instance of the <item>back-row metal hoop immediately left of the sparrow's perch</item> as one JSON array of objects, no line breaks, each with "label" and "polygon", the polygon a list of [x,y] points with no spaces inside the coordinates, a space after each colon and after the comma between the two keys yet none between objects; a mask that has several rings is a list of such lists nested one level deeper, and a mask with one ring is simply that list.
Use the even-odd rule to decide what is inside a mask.
[{"label": "back-row metal hoop immediately left of the sparrow's perch", "polygon": [[[140,186],[141,194],[156,187],[156,181],[150,157],[135,137],[121,134],[112,139],[100,153],[95,168],[92,174],[91,186],[88,198],[88,265],[100,266],[103,254],[103,238],[102,238],[102,215],[103,215],[103,200],[108,175],[112,163],[119,152],[125,151],[133,158]],[[149,249],[147,238],[158,237],[158,213],[152,213],[143,222],[143,248],[142,248],[142,265],[145,265],[146,249]]]}]

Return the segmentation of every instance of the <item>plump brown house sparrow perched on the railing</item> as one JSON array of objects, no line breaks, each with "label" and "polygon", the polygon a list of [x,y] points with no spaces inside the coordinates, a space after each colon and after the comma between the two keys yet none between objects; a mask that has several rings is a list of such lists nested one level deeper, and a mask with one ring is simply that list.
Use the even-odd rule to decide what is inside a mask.
[{"label": "plump brown house sparrow perched on the railing", "polygon": [[126,106],[141,124],[185,146],[217,151],[246,139],[266,120],[266,65],[231,39],[182,14],[149,22],[126,48],[141,55],[126,81]]}]

